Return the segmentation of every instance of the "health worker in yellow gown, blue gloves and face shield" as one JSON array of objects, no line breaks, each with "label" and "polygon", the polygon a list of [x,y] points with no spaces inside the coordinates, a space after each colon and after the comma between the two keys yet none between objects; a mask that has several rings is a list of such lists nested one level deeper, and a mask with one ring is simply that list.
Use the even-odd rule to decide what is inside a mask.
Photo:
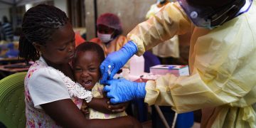
[{"label": "health worker in yellow gown, blue gloves and face shield", "polygon": [[[110,53],[101,68],[110,102],[145,98],[178,113],[202,109],[201,127],[256,127],[256,1],[177,0],[139,23],[129,42]],[[192,31],[189,76],[154,81],[112,79],[132,55]]]}]

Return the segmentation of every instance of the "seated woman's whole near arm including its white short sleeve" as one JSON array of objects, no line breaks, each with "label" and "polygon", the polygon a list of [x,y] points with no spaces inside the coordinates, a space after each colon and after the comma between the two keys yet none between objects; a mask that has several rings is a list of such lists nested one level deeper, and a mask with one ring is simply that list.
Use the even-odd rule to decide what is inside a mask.
[{"label": "seated woman's whole near arm including its white short sleeve", "polygon": [[[115,119],[86,119],[75,103],[60,78],[58,72],[41,68],[28,80],[29,94],[36,108],[45,110],[62,127],[136,127],[139,125],[132,117]],[[58,91],[56,91],[58,90]],[[122,121],[122,120],[125,120]],[[117,122],[122,122],[119,124]],[[135,125],[136,126],[135,126]]]}]

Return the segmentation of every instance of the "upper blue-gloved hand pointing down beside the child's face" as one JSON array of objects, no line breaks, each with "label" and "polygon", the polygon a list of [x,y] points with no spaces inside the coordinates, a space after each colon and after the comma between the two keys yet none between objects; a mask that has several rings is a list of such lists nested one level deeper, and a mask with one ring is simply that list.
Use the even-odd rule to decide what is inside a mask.
[{"label": "upper blue-gloved hand pointing down beside the child's face", "polygon": [[132,41],[128,41],[120,50],[107,55],[107,58],[100,65],[100,71],[102,73],[100,83],[105,84],[106,80],[112,80],[117,71],[122,68],[135,53],[137,53],[136,44]]}]

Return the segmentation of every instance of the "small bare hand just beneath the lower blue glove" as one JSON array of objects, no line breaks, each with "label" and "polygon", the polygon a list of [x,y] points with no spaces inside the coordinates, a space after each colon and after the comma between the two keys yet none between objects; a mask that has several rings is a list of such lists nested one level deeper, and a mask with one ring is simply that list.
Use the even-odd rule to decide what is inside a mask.
[{"label": "small bare hand just beneath the lower blue glove", "polygon": [[126,110],[127,106],[129,105],[129,102],[122,102],[119,104],[111,104],[110,101],[107,101],[108,108],[112,110],[113,113],[118,113],[118,112],[124,112]]}]

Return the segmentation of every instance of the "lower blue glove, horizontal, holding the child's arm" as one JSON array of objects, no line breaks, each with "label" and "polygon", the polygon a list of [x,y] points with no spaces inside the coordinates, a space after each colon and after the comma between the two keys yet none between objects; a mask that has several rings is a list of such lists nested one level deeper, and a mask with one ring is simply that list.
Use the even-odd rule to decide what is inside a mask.
[{"label": "lower blue glove, horizontal, holding the child's arm", "polygon": [[131,82],[125,79],[107,80],[104,91],[113,104],[127,102],[135,98],[144,98],[146,82]]}]

